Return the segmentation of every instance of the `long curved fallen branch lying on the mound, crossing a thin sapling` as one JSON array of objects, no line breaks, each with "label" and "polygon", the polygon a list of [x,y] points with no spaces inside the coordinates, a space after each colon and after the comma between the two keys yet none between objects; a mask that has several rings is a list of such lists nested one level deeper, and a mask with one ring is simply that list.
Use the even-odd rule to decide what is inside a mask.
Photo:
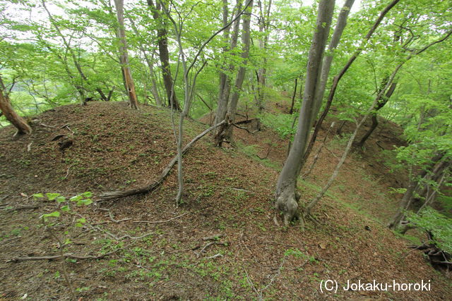
[{"label": "long curved fallen branch lying on the mound, crossing a thin sapling", "polygon": [[[211,126],[207,130],[203,131],[203,133],[194,137],[194,139],[191,140],[189,142],[189,144],[187,144],[184,147],[184,149],[182,149],[182,155],[184,155],[186,153],[186,151],[189,150],[189,148],[192,145],[194,145],[194,143],[196,141],[200,140],[203,136],[205,136],[211,130],[217,128],[218,126],[222,125],[223,123],[225,123],[225,121],[222,121],[216,125]],[[135,189],[131,189],[131,190],[119,190],[119,191],[104,192],[104,193],[102,193],[102,195],[100,195],[100,201],[106,201],[108,199],[119,199],[121,197],[129,197],[131,195],[142,195],[142,194],[145,194],[148,192],[152,192],[153,190],[157,189],[160,186],[160,184],[162,184],[163,180],[165,180],[165,178],[168,176],[169,171],[171,171],[172,166],[174,166],[174,164],[176,164],[176,162],[177,162],[177,156],[174,156],[174,158],[171,161],[169,161],[169,164],[165,167],[165,169],[162,171],[162,173],[160,173],[160,176],[157,178],[157,180],[155,180],[153,183],[146,185],[144,187],[141,187],[141,188],[135,188]]]}]

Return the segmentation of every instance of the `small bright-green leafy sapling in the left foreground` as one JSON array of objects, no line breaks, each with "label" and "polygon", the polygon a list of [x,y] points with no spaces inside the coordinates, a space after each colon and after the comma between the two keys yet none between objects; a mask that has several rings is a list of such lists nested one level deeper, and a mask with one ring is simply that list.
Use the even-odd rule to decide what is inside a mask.
[{"label": "small bright-green leafy sapling in the left foreground", "polygon": [[[70,219],[71,221],[73,221],[73,223],[61,230],[62,233],[55,233],[52,227],[59,223],[62,219],[62,216],[64,216],[65,214],[74,215],[73,211],[71,211],[71,204],[75,203],[77,206],[88,206],[89,204],[93,203],[93,200],[90,199],[92,195],[93,194],[91,192],[83,192],[82,194],[73,196],[70,199],[66,199],[66,197],[60,195],[59,193],[46,193],[45,195],[43,195],[42,193],[37,193],[33,195],[35,199],[47,198],[49,201],[56,202],[57,210],[48,214],[42,214],[42,216],[40,216],[40,219],[42,221],[42,224],[44,225],[44,228],[49,231],[52,238],[54,238],[54,240],[58,243],[64,280],[66,281],[66,284],[71,291],[73,300],[77,300],[77,298],[75,290],[73,289],[73,285],[69,280],[69,276],[66,271],[66,256],[64,254],[64,247],[71,244],[71,239],[69,238],[69,227],[82,227],[83,224],[86,223],[86,220],[83,217],[79,219]],[[59,277],[59,272],[56,271],[54,276],[56,278]],[[80,290],[77,291],[80,292]]]}]

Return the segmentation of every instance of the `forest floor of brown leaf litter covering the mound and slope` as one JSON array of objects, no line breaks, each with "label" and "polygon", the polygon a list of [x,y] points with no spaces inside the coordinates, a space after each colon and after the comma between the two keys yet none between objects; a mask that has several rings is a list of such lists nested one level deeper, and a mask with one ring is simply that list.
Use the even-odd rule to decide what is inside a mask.
[{"label": "forest floor of brown leaf litter covering the mound and slope", "polygon": [[[0,300],[71,298],[60,259],[11,260],[59,254],[57,241],[40,222],[55,204],[33,194],[71,197],[91,191],[96,201],[100,192],[151,183],[176,153],[167,109],[133,111],[125,103],[92,102],[60,106],[35,118],[32,135],[13,138],[13,128],[0,130]],[[204,129],[198,121],[187,121],[185,142]],[[344,133],[347,137],[347,127]],[[385,226],[400,199],[391,188],[400,188],[405,178],[389,173],[385,152],[403,145],[396,125],[378,128],[364,151],[350,154],[334,187],[314,209],[316,221],[308,221],[304,231],[274,221],[273,190],[288,140],[265,127],[254,134],[235,129],[234,135],[237,149],[213,147],[204,137],[187,152],[186,193],[179,207],[174,206],[177,177],[172,171],[148,195],[94,202],[61,216],[52,231],[71,237],[66,253],[116,251],[100,259],[64,261],[78,300],[451,297],[451,276],[429,266],[422,252],[410,251],[410,242]],[[73,145],[61,151],[61,139]],[[302,199],[326,183],[344,144],[345,138],[330,134],[314,170],[299,183]],[[78,216],[87,220],[85,226],[67,228]],[[319,284],[328,279],[338,281],[337,292],[321,292]],[[424,281],[431,290],[344,290],[347,280]]]}]

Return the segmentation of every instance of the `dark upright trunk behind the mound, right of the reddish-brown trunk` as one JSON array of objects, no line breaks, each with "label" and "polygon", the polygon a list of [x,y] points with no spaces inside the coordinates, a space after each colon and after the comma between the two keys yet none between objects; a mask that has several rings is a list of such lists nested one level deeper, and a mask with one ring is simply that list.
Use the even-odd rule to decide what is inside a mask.
[{"label": "dark upright trunk behind the mound, right of the reddish-brown trunk", "polygon": [[168,106],[172,106],[173,109],[180,111],[180,105],[177,101],[176,93],[174,92],[174,83],[171,76],[171,69],[169,68],[167,29],[165,26],[165,20],[162,20],[162,18],[160,18],[160,3],[157,1],[157,3],[154,5],[153,0],[148,0],[148,6],[153,13],[154,20],[156,20],[158,23],[158,53],[160,56],[160,64],[162,65],[163,84],[165,85],[165,92],[167,93]]}]

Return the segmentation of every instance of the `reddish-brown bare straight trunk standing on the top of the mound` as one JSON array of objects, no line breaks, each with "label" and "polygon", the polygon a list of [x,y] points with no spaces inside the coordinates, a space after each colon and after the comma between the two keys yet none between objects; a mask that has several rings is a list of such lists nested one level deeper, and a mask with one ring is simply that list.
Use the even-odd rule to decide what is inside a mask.
[{"label": "reddish-brown bare straight trunk standing on the top of the mound", "polygon": [[124,80],[129,96],[129,105],[132,109],[138,109],[138,98],[136,97],[135,84],[133,83],[132,73],[129,66],[129,54],[127,53],[126,30],[124,28],[124,0],[114,0],[116,13],[119,23],[119,61],[121,69],[124,72]]}]

